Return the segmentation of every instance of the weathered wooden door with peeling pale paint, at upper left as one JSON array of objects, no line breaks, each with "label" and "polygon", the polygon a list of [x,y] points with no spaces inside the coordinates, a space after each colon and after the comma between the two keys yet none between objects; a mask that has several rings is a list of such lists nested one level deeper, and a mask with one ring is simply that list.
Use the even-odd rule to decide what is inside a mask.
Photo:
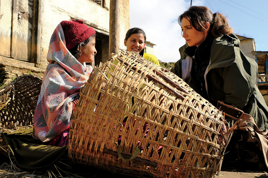
[{"label": "weathered wooden door with peeling pale paint, at upper left", "polygon": [[33,61],[35,1],[0,1],[0,55],[21,61]]}]

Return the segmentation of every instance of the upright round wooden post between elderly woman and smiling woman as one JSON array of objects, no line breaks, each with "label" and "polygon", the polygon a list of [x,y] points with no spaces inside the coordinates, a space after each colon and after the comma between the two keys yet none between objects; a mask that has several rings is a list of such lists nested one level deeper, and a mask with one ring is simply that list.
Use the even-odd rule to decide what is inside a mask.
[{"label": "upright round wooden post between elderly woman and smiling woman", "polygon": [[119,51],[120,47],[120,0],[110,1],[110,23],[109,23],[109,58],[111,53]]}]

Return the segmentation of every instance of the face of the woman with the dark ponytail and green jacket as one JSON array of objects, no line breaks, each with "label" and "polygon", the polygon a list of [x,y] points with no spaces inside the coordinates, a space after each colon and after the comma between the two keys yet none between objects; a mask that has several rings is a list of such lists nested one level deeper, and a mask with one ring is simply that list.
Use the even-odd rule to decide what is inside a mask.
[{"label": "face of the woman with the dark ponytail and green jacket", "polygon": [[191,26],[191,23],[183,18],[181,20],[182,37],[186,40],[189,46],[198,47],[206,39],[207,33],[197,31]]}]

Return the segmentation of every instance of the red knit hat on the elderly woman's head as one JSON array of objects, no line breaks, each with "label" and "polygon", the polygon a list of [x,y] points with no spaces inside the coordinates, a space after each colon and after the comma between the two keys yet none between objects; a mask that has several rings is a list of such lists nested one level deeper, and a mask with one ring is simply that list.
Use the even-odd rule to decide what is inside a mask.
[{"label": "red knit hat on the elderly woman's head", "polygon": [[83,20],[62,21],[60,23],[68,50],[88,39],[96,31],[84,24]]}]

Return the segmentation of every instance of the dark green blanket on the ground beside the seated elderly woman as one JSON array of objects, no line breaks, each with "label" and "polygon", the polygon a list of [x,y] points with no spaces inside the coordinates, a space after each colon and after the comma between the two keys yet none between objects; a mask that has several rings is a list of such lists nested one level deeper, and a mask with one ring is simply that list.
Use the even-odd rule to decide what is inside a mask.
[{"label": "dark green blanket on the ground beside the seated elderly woman", "polygon": [[18,166],[22,168],[44,168],[68,154],[67,146],[37,144],[38,140],[32,138],[32,129],[20,129],[12,133],[0,131],[0,134]]}]

